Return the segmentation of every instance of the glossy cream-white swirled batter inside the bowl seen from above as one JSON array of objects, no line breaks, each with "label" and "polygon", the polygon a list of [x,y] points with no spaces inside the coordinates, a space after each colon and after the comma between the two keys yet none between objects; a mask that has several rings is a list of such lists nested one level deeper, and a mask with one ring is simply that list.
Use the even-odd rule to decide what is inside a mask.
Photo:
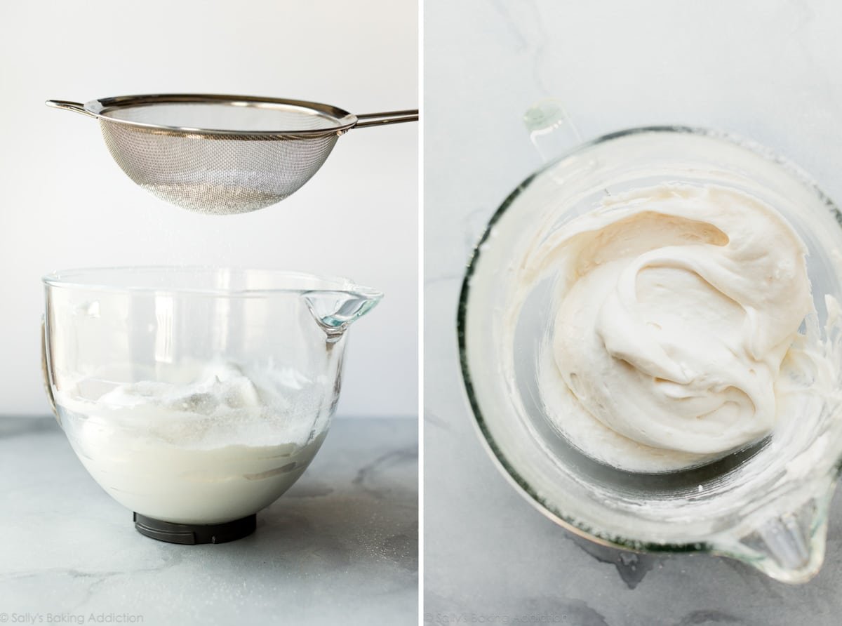
[{"label": "glossy cream-white swirled batter inside the bowl seen from above", "polygon": [[540,375],[558,428],[590,456],[641,471],[769,434],[787,352],[813,311],[805,254],[775,209],[712,185],[607,196],[557,228],[521,276],[559,276]]}]

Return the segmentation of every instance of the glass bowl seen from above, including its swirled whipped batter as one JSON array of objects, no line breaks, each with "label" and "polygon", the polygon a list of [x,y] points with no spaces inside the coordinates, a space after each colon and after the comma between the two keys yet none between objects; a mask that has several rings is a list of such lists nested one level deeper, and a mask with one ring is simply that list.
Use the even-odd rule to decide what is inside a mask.
[{"label": "glass bowl seen from above, including its swirled whipped batter", "polygon": [[459,311],[504,474],[588,538],[807,580],[842,457],[839,223],[800,170],[711,131],[624,131],[525,180]]}]

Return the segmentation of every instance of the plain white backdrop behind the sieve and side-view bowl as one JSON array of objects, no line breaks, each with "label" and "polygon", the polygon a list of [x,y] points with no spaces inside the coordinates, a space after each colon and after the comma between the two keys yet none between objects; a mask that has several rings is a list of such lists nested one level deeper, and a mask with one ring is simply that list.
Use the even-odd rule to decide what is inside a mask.
[{"label": "plain white backdrop behind the sieve and side-view bowl", "polygon": [[235,265],[349,276],[386,293],[351,332],[340,415],[418,403],[418,125],[351,131],[279,205],[208,217],[112,161],[96,122],[45,99],[221,93],[352,113],[418,104],[418,5],[388,0],[3,3],[0,415],[44,415],[40,276]]}]

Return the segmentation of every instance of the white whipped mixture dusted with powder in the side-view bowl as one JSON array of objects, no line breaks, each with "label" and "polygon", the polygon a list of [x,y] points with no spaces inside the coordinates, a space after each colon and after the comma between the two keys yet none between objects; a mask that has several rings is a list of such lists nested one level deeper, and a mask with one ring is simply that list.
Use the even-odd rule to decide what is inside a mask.
[{"label": "white whipped mixture dusted with powder in the side-view bowl", "polygon": [[173,379],[120,384],[98,399],[79,385],[55,394],[88,473],[146,516],[218,524],[260,511],[328,434],[327,389],[296,372],[186,361]]}]

